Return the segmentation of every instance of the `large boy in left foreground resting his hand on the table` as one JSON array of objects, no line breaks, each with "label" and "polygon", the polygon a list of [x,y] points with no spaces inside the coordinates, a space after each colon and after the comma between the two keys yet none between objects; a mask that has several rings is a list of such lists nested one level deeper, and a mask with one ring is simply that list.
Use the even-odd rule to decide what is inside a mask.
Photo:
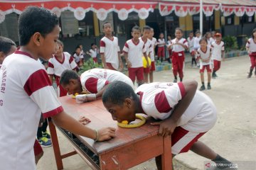
[{"label": "large boy in left foreground resting his hand on the table", "polygon": [[0,69],[0,82],[8,84],[0,93],[1,169],[36,169],[33,145],[41,113],[77,135],[97,141],[114,137],[114,128],[92,130],[65,113],[38,62],[39,57],[49,60],[57,49],[58,17],[46,8],[29,6],[18,18],[18,33],[21,47]]}]

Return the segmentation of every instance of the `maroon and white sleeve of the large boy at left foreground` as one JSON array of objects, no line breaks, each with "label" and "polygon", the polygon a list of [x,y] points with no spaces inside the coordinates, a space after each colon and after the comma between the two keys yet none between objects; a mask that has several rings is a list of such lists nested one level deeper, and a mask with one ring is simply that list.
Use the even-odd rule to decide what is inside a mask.
[{"label": "maroon and white sleeve of the large boy at left foreground", "polygon": [[28,96],[41,108],[44,118],[56,115],[63,111],[57,95],[51,86],[46,70],[39,69],[28,77],[23,86]]}]

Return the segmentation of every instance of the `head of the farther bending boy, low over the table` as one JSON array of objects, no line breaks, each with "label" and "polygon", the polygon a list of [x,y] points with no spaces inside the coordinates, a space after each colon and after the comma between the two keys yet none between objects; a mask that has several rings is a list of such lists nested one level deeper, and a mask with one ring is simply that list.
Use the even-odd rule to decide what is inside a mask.
[{"label": "head of the farther bending boy, low over the table", "polygon": [[82,92],[82,84],[80,82],[80,77],[73,70],[66,69],[60,75],[60,85],[68,91],[68,94],[75,94]]}]

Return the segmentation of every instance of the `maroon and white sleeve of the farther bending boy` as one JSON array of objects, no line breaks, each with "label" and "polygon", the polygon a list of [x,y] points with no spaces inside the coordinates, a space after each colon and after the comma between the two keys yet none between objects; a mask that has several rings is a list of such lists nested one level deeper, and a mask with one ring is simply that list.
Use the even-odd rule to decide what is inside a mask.
[{"label": "maroon and white sleeve of the farther bending boy", "polygon": [[85,89],[91,94],[97,94],[98,91],[102,90],[105,85],[109,84],[109,81],[105,79],[97,79],[90,77],[85,80]]}]

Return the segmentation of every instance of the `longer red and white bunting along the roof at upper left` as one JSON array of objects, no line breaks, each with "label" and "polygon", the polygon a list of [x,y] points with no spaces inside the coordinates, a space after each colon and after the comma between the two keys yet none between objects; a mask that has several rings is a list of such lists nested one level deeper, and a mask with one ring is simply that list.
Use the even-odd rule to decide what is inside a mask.
[{"label": "longer red and white bunting along the roof at upper left", "polygon": [[137,12],[139,18],[146,19],[149,16],[149,12],[153,12],[157,5],[157,1],[119,1],[119,0],[88,0],[88,1],[51,1],[51,0],[28,0],[28,1],[0,1],[0,23],[4,21],[5,16],[9,13],[18,13],[26,8],[26,6],[43,6],[53,11],[58,17],[60,17],[63,11],[73,11],[74,16],[78,20],[85,18],[85,13],[88,11],[94,11],[97,14],[97,18],[104,21],[107,18],[107,13],[116,12],[120,20],[128,18],[128,14],[131,12]]}]

